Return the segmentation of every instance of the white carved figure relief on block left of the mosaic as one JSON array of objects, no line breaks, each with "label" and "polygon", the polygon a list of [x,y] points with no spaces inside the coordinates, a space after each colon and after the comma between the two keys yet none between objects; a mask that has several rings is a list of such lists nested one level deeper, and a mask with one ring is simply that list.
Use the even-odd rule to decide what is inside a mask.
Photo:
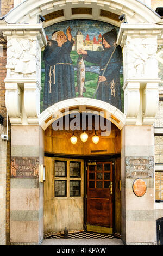
[{"label": "white carved figure relief on block left of the mosaic", "polygon": [[36,40],[10,39],[7,44],[7,68],[11,69],[11,77],[34,77],[37,69]]}]

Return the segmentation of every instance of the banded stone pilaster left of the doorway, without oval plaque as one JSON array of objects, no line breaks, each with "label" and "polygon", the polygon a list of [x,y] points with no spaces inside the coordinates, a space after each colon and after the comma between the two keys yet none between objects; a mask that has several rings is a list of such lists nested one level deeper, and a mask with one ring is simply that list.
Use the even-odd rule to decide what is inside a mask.
[{"label": "banded stone pilaster left of the doorway, without oval plaque", "polygon": [[43,131],[38,125],[11,128],[11,244],[39,244],[43,240]]}]

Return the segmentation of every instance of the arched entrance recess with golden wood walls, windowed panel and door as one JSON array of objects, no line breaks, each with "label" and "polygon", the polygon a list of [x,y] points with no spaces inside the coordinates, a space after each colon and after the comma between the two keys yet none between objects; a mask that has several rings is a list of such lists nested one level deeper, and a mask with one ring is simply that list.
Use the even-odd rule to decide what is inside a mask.
[{"label": "arched entrance recess with golden wood walls, windowed panel and door", "polygon": [[[84,99],[79,99],[85,103]],[[67,101],[68,102],[68,101]],[[93,102],[93,101],[92,101]],[[95,100],[98,103],[97,100]],[[95,103],[94,102],[94,103]],[[71,102],[72,103],[72,102]],[[64,102],[63,102],[64,104]],[[108,104],[109,105],[109,104]],[[85,105],[83,105],[84,107]],[[109,107],[109,106],[108,106]],[[53,106],[54,109],[54,106]],[[70,107],[72,116],[80,114],[79,106]],[[80,109],[82,106],[80,105]],[[85,106],[85,113],[92,118],[93,107]],[[94,114],[102,114],[94,110]],[[118,109],[110,110],[120,114]],[[92,113],[91,113],[92,110]],[[99,110],[99,109],[98,109]],[[78,111],[78,113],[76,113]],[[45,111],[46,112],[46,111]],[[48,111],[47,111],[48,112]],[[54,130],[53,123],[66,119],[62,111],[55,119],[56,114],[48,112],[48,122],[45,129],[45,166],[46,181],[44,183],[44,232],[49,234],[63,233],[65,227],[70,231],[96,231],[121,235],[121,132],[110,121],[110,131],[101,136],[101,126],[96,130],[99,136],[98,144],[92,142],[95,133],[95,121],[92,119],[93,130],[88,130],[86,120],[86,133],[88,139],[85,143],[80,140],[82,129],[74,131],[78,141],[75,145],[70,142],[72,130]],[[66,112],[67,113],[67,112]],[[72,115],[73,113],[73,115]],[[103,112],[104,113],[104,112]],[[45,114],[45,113],[44,113]],[[108,119],[116,120],[119,127],[122,120],[106,113]],[[43,116],[43,113],[42,113]],[[97,115],[99,118],[99,115]],[[123,119],[123,113],[121,114]],[[53,120],[52,120],[53,119]],[[55,121],[54,121],[55,120]],[[82,122],[82,119],[80,120]],[[45,121],[46,123],[46,121]],[[65,124],[65,121],[63,122]],[[121,125],[120,125],[121,123]],[[43,123],[42,123],[43,124]],[[74,173],[73,170],[74,169]]]}]

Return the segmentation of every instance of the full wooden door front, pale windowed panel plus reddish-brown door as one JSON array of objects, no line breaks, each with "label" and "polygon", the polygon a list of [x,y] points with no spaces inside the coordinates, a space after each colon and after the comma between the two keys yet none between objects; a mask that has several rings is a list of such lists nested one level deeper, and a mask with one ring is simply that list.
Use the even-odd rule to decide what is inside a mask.
[{"label": "full wooden door front, pale windowed panel plus reddish-brown door", "polygon": [[45,157],[45,235],[65,227],[81,231],[85,224],[88,231],[120,235],[120,160],[89,162],[86,172],[82,159]]}]

